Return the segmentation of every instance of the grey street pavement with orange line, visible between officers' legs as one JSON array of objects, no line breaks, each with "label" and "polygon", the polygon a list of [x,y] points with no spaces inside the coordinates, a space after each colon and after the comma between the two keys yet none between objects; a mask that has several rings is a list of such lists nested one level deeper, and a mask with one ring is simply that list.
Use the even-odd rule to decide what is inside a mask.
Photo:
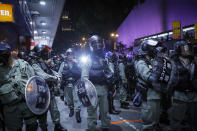
[{"label": "grey street pavement with orange line, visible between officers' legs", "polygon": [[[69,117],[69,109],[64,103],[60,100],[59,97],[56,97],[58,108],[61,114],[61,124],[68,131],[85,131],[87,127],[87,111],[86,108],[83,108],[81,111],[82,123],[77,123],[75,116]],[[119,109],[119,103],[115,100],[115,106],[118,110],[121,110],[119,115],[110,115],[111,116],[111,131],[138,131],[140,125],[140,109],[136,107],[130,107],[129,110]],[[100,121],[98,121],[98,130],[100,127]],[[54,125],[51,121],[50,113],[48,113],[48,130],[53,131]]]}]

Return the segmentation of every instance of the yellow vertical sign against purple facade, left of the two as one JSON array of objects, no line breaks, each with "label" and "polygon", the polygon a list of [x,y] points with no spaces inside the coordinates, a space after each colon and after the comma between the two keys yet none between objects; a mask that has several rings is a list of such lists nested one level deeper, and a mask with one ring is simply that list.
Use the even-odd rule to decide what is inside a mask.
[{"label": "yellow vertical sign against purple facade, left of the two", "polygon": [[173,30],[173,39],[181,38],[181,23],[180,21],[172,22],[172,30]]}]

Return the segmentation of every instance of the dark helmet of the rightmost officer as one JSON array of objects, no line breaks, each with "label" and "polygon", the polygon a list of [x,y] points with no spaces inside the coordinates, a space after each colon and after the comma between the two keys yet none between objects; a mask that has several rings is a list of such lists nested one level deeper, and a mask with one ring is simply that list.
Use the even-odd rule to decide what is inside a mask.
[{"label": "dark helmet of the rightmost officer", "polygon": [[192,47],[186,41],[176,42],[174,50],[176,52],[176,55],[182,55],[183,57],[193,56]]}]

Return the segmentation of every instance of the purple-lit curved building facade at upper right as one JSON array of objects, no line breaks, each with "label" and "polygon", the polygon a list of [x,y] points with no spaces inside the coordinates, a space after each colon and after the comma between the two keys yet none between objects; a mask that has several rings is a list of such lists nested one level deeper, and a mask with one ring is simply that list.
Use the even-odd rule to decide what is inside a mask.
[{"label": "purple-lit curved building facade at upper right", "polygon": [[146,0],[117,29],[117,41],[132,46],[135,39],[172,30],[173,21],[182,27],[196,23],[197,0]]}]

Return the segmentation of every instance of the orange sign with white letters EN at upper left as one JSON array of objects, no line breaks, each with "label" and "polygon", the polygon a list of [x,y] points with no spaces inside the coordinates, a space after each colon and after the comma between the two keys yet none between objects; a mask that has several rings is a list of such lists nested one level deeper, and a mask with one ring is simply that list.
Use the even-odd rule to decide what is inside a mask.
[{"label": "orange sign with white letters EN at upper left", "polygon": [[0,4],[0,22],[13,21],[13,6],[11,4]]}]

